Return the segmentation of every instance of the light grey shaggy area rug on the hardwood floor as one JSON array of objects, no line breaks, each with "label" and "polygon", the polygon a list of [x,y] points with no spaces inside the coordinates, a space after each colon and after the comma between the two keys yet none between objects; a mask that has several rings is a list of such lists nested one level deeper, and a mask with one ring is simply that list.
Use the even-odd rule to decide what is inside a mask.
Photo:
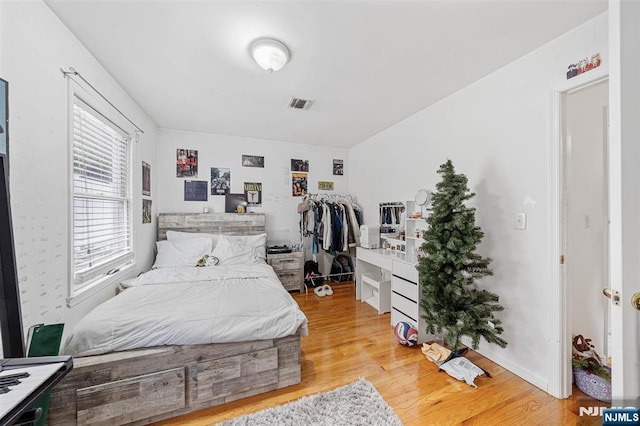
[{"label": "light grey shaggy area rug on the hardwood floor", "polygon": [[218,423],[220,426],[402,426],[376,388],[360,379],[329,392]]}]

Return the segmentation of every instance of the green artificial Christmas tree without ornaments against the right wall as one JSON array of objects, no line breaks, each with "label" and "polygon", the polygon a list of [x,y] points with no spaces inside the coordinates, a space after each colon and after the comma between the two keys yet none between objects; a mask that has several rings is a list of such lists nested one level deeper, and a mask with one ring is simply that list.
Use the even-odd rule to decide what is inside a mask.
[{"label": "green artificial Christmas tree without ornaments against the right wall", "polygon": [[458,350],[462,336],[471,337],[474,349],[480,337],[504,348],[501,321],[493,316],[504,308],[496,294],[475,286],[476,280],[493,275],[491,259],[475,252],[484,232],[475,225],[475,208],[465,206],[475,194],[469,191],[466,176],[455,173],[451,160],[440,166],[438,174],[442,181],[436,185],[427,218],[425,256],[417,266],[427,333],[444,333],[453,356],[463,352]]}]

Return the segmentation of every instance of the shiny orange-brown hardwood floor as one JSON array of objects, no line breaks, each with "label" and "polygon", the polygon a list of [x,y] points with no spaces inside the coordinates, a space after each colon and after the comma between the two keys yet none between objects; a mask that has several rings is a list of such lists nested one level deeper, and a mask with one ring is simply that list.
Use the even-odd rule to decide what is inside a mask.
[{"label": "shiny orange-brown hardwood floor", "polygon": [[302,383],[268,394],[157,423],[212,425],[281,405],[305,395],[370,381],[405,425],[599,425],[600,417],[579,416],[579,406],[606,406],[574,388],[555,399],[504,368],[469,351],[467,358],[492,378],[476,379],[478,389],[438,372],[419,347],[404,347],[393,337],[390,314],[356,301],[352,283],[332,285],[333,296],[312,291],[293,297],[309,319],[302,338]]}]

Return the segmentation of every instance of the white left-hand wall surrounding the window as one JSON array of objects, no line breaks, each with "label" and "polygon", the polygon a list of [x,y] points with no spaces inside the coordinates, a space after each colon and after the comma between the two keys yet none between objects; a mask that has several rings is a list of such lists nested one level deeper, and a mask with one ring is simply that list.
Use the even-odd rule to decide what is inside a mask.
[{"label": "white left-hand wall surrounding the window", "polygon": [[[133,155],[136,271],[149,268],[155,221],[142,225],[141,161],[152,165],[156,126],[41,1],[0,2],[0,76],[9,81],[11,202],[23,323],[66,323],[114,294],[114,286],[68,308],[67,80],[76,68],[145,134]],[[154,198],[157,192],[153,193]],[[155,207],[155,206],[154,206]]]}]

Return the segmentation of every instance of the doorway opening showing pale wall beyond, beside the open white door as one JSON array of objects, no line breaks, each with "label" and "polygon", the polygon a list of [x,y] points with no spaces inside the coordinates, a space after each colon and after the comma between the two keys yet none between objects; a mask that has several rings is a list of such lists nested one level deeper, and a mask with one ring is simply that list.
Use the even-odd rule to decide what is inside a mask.
[{"label": "doorway opening showing pale wall beyond, beside the open white door", "polygon": [[609,287],[608,97],[607,80],[563,93],[561,139],[567,337],[591,339],[605,359],[611,353],[610,304],[602,293]]}]

